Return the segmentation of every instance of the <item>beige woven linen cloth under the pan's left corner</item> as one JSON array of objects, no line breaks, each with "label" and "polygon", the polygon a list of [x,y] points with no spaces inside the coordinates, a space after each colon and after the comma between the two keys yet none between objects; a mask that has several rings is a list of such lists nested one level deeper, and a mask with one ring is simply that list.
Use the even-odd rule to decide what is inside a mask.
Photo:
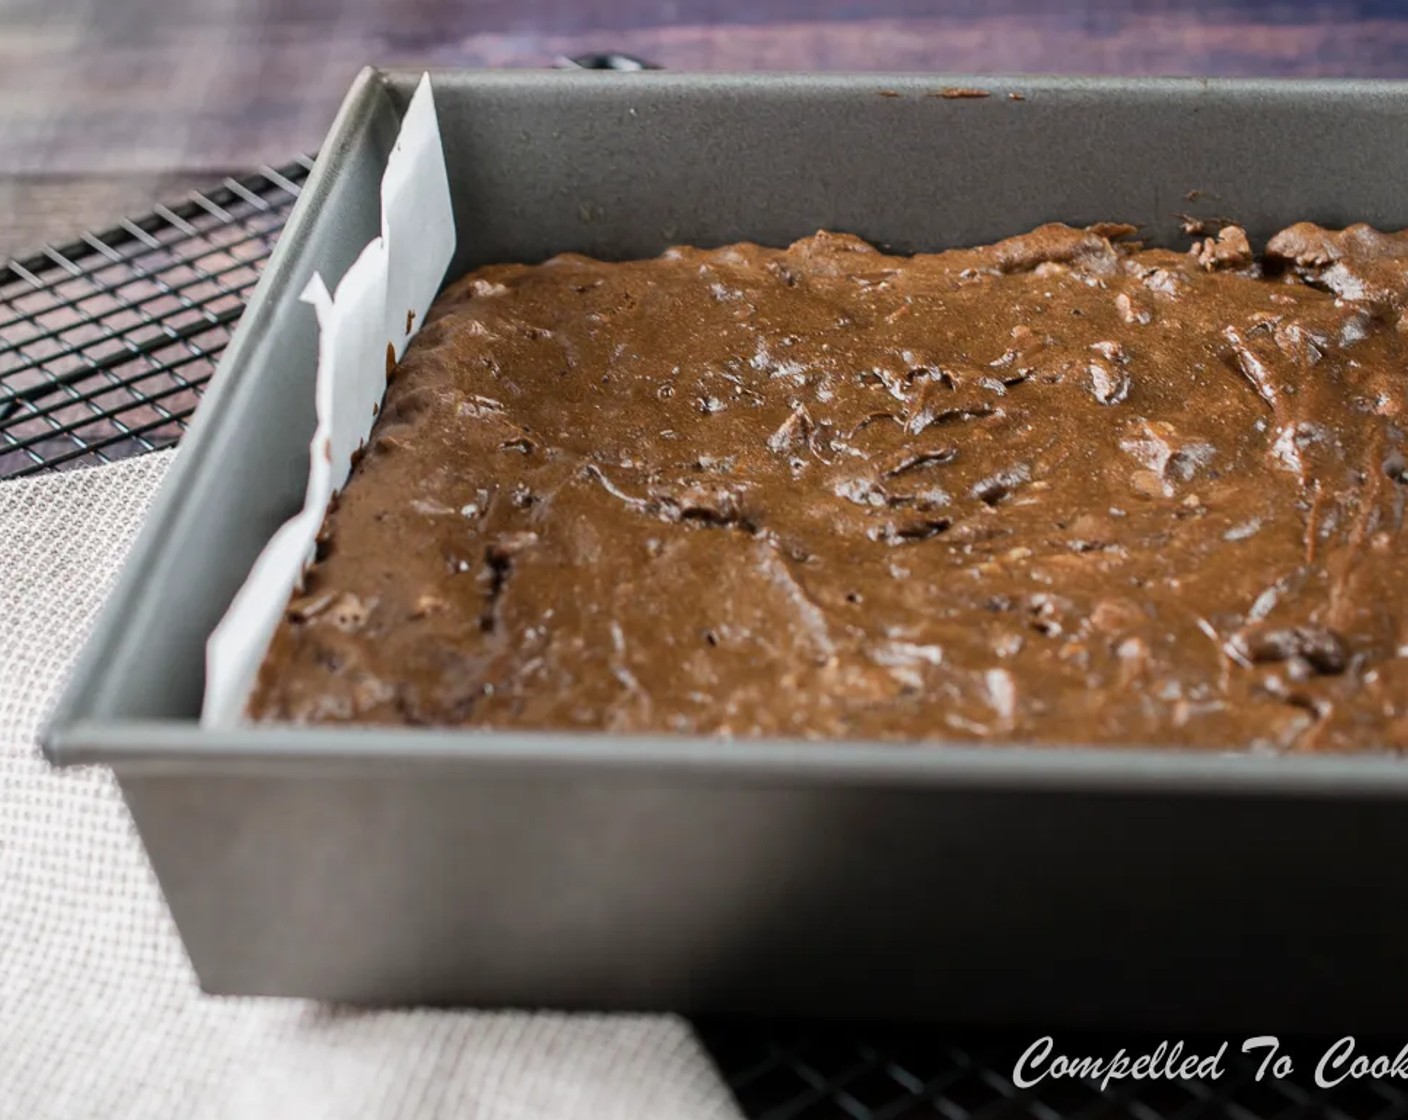
[{"label": "beige woven linen cloth under the pan's left corner", "polygon": [[169,462],[0,483],[0,1117],[736,1116],[674,1017],[200,993],[108,772],[35,747]]}]

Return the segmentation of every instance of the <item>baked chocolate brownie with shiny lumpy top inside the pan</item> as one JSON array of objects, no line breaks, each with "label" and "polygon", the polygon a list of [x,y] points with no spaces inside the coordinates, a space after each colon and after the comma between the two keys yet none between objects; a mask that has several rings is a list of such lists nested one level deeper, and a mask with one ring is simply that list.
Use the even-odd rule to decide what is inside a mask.
[{"label": "baked chocolate brownie with shiny lumpy top inside the pan", "polygon": [[1408,237],[1133,232],[463,278],[252,714],[1408,745]]}]

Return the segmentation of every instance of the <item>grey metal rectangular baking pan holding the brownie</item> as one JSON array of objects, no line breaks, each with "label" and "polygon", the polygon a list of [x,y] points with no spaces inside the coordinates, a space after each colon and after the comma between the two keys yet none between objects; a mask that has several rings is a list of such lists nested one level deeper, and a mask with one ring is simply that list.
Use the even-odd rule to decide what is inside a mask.
[{"label": "grey metal rectangular baking pan holding the brownie", "polygon": [[[121,783],[201,985],[363,1003],[1393,1031],[1408,762],[567,734],[201,731],[297,509],[315,325],[418,73],[352,89],[48,730]],[[1408,225],[1408,85],[438,73],[452,272],[897,251],[1204,206]],[[991,96],[934,96],[948,86]],[[1010,97],[1021,94],[1024,100]]]}]

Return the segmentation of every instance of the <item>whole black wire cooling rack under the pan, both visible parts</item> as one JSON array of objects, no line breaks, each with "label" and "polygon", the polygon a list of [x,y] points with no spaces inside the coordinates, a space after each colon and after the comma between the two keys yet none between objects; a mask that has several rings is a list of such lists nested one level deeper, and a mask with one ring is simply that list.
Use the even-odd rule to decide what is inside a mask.
[{"label": "whole black wire cooling rack under the pan, both visible parts", "polygon": [[[180,438],[310,166],[300,159],[225,179],[0,268],[0,478],[97,465]],[[1019,1089],[1014,1064],[1045,1034],[1036,1027],[698,1027],[755,1120],[1408,1120],[1408,1082],[1314,1086],[1315,1059],[1335,1040],[1287,1043],[1295,1075],[1284,1081],[1257,1081],[1256,1059],[1235,1037],[1217,1079]],[[1112,1057],[1159,1041],[1071,1034],[1059,1035],[1059,1051]],[[1211,1052],[1221,1041],[1188,1048]],[[1359,1048],[1395,1054],[1400,1044]]]}]

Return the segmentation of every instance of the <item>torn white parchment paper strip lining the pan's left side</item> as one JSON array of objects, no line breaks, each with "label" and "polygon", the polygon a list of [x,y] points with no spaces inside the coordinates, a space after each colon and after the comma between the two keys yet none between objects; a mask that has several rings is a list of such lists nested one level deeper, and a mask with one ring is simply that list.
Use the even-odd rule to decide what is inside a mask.
[{"label": "torn white parchment paper strip lining the pan's left side", "polygon": [[255,561],[206,642],[201,724],[239,723],[269,641],[313,559],[332,494],[346,482],[386,393],[387,348],[396,358],[425,321],[455,252],[445,149],[429,76],[421,79],[382,176],[382,235],[328,294],[314,275],[303,293],[318,317],[318,425],[308,448],[303,509]]}]

